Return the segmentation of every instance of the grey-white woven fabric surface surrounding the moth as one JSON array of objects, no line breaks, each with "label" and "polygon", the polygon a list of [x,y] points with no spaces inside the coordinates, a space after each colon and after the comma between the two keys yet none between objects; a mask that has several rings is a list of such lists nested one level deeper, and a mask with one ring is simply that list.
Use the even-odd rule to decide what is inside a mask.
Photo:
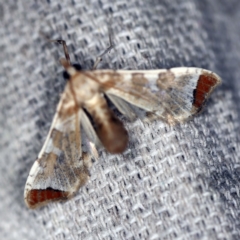
[{"label": "grey-white woven fabric surface surrounding the moth", "polygon": [[[0,239],[239,239],[240,2],[0,1]],[[100,152],[66,203],[28,210],[29,170],[64,87],[62,48],[91,69],[195,66],[223,84],[192,121],[126,122],[122,155]]]}]

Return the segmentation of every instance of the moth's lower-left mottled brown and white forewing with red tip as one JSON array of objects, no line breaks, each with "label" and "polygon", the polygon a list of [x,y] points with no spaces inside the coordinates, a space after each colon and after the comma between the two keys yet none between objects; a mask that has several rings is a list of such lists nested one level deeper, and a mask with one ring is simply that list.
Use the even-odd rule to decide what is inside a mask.
[{"label": "moth's lower-left mottled brown and white forewing with red tip", "polygon": [[24,198],[29,208],[66,200],[89,178],[91,154],[82,151],[80,136],[84,112],[75,107],[68,88],[67,85],[26,182]]}]

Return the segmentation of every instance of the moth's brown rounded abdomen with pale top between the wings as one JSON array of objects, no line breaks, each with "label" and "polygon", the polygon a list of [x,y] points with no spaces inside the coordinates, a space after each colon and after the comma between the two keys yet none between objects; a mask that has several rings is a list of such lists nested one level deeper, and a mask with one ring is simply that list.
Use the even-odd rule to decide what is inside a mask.
[{"label": "moth's brown rounded abdomen with pale top between the wings", "polygon": [[122,153],[128,144],[128,133],[123,123],[109,109],[106,100],[96,94],[86,109],[95,122],[97,135],[110,153]]}]

